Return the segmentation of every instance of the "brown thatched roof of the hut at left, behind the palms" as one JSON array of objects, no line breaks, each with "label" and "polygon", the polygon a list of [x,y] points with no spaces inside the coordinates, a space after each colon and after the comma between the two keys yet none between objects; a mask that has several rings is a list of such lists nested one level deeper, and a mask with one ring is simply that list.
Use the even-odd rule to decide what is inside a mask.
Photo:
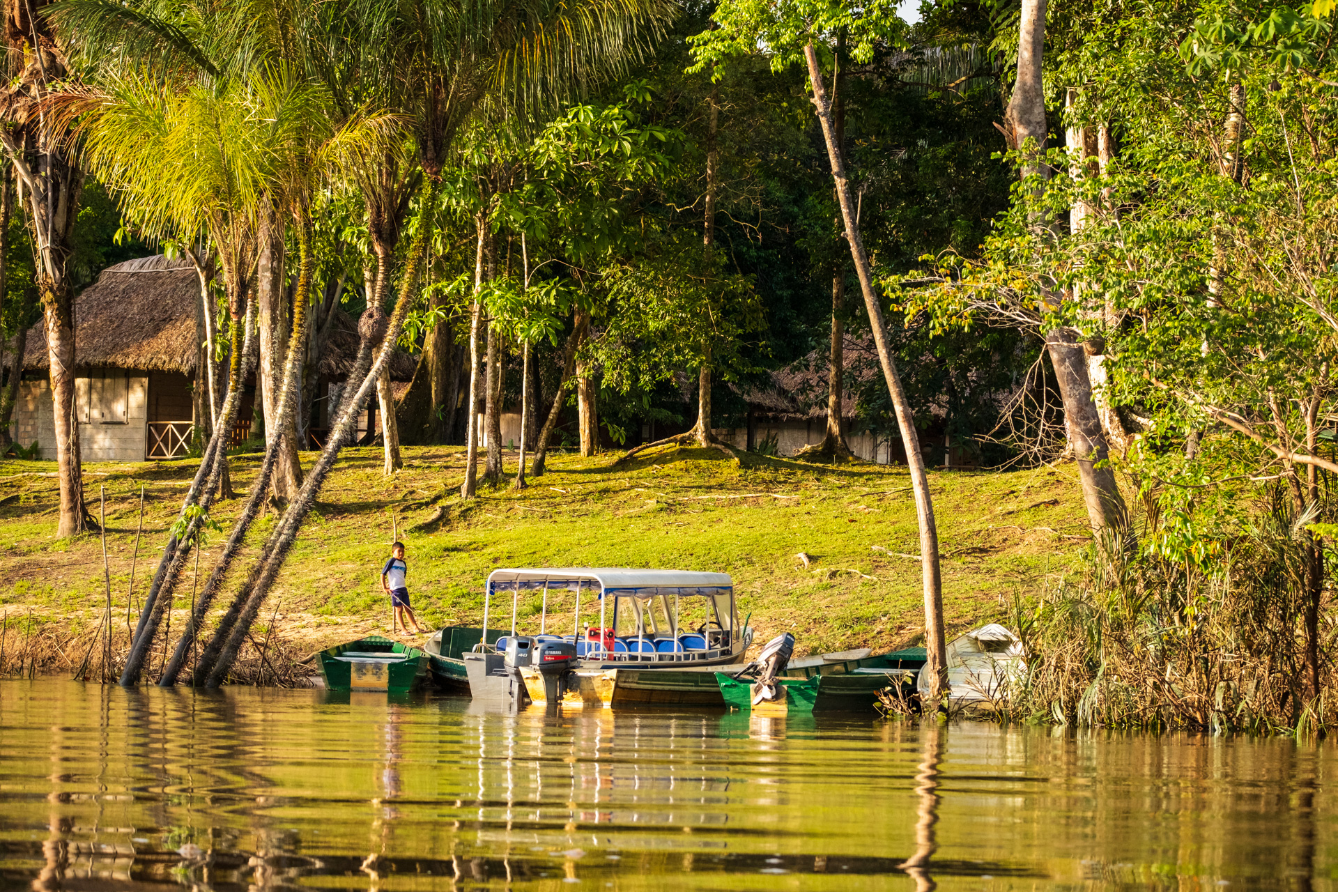
[{"label": "brown thatched roof of the hut at left, behind the palms", "polygon": [[[195,373],[195,301],[199,278],[190,261],[162,254],[140,257],[103,270],[98,281],[75,297],[75,360],[79,368],[110,365],[147,372]],[[320,373],[344,378],[357,356],[357,322],[334,310],[329,346],[317,362]],[[28,330],[24,369],[45,369],[47,336],[41,325]],[[413,377],[413,357],[396,350],[391,378]]]}]

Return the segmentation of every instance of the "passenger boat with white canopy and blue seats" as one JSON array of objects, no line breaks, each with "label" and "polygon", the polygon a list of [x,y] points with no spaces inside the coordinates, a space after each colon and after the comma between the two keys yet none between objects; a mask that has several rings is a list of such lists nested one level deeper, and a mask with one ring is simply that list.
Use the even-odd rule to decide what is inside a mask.
[{"label": "passenger boat with white canopy and blue seats", "polygon": [[[558,629],[557,611],[571,625]],[[459,687],[466,654],[504,654],[518,638],[574,645],[579,673],[728,666],[743,661],[752,630],[739,622],[729,574],[518,567],[488,575],[482,629],[448,626],[425,650],[436,679]]]}]

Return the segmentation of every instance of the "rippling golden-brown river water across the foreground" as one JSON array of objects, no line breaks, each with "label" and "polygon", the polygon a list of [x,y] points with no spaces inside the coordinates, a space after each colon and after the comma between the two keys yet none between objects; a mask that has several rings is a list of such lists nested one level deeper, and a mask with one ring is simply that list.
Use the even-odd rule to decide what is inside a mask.
[{"label": "rippling golden-brown river water across the foreground", "polygon": [[0,889],[1334,888],[1331,745],[0,682]]}]

